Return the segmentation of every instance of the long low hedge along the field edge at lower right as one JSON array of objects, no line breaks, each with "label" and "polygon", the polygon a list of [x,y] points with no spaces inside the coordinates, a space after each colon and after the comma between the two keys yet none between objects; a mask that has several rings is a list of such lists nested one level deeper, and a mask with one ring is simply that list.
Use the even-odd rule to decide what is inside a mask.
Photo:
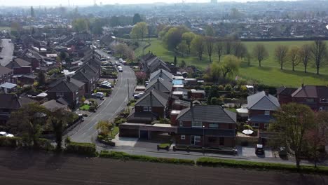
[{"label": "long low hedge along the field edge at lower right", "polygon": [[250,168],[259,170],[287,170],[290,172],[306,172],[328,174],[328,167],[317,167],[302,165],[300,169],[296,165],[285,165],[280,163],[261,163],[246,160],[228,160],[220,158],[198,158],[196,165],[212,166],[212,167],[236,167]]}]

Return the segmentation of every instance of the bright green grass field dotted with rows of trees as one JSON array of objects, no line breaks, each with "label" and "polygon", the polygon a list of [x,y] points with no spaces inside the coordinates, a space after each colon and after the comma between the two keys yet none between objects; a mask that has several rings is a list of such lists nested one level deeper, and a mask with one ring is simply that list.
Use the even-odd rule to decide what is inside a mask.
[{"label": "bright green grass field dotted with rows of trees", "polygon": [[[151,39],[151,46],[146,48],[145,53],[151,50],[155,55],[160,57],[160,59],[166,62],[173,62],[175,53],[168,50],[163,46],[162,41],[159,39]],[[249,52],[252,52],[252,48],[256,43],[264,43],[266,49],[268,50],[268,59],[262,62],[262,67],[258,67],[259,64],[256,60],[252,59],[251,66],[247,66],[245,62],[242,63],[238,76],[246,78],[247,80],[254,80],[266,85],[274,86],[291,86],[299,87],[302,82],[306,85],[328,85],[328,67],[322,67],[320,69],[320,75],[315,74],[315,68],[313,64],[309,64],[308,73],[303,73],[303,65],[299,64],[296,66],[296,71],[292,71],[291,64],[286,63],[284,70],[280,70],[280,65],[275,62],[273,53],[275,47],[278,45],[286,46],[301,46],[304,43],[312,43],[312,41],[263,41],[263,42],[244,42],[247,46]],[[136,50],[136,55],[142,55],[142,49]],[[203,56],[203,60],[199,61],[198,57],[186,56],[177,57],[178,63],[184,60],[186,64],[195,65],[200,69],[206,69],[210,64],[207,55]],[[212,57],[212,60],[217,60],[217,55]]]}]

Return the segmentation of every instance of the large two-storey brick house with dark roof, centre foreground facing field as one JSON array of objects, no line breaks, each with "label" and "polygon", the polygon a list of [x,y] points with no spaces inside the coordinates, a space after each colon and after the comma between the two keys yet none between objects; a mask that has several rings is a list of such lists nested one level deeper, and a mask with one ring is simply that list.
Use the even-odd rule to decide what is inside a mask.
[{"label": "large two-storey brick house with dark roof, centre foreground facing field", "polygon": [[221,106],[196,105],[177,116],[176,144],[184,146],[235,146],[236,114]]}]

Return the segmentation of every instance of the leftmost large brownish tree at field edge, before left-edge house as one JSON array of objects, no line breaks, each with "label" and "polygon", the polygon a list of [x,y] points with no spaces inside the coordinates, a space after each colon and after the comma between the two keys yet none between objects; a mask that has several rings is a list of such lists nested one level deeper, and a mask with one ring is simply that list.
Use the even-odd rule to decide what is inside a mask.
[{"label": "leftmost large brownish tree at field edge, before left-edge house", "polygon": [[39,104],[25,104],[11,113],[7,126],[11,132],[22,135],[29,146],[37,147],[47,114],[48,110]]}]

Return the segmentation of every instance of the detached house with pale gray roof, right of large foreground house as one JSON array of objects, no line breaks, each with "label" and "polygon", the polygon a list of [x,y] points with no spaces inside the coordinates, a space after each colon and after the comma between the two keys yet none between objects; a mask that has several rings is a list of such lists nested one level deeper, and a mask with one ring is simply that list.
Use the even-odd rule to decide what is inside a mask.
[{"label": "detached house with pale gray roof, right of large foreground house", "polygon": [[273,114],[280,108],[278,99],[268,91],[261,91],[247,97],[248,123],[253,128],[266,129],[274,118]]}]

